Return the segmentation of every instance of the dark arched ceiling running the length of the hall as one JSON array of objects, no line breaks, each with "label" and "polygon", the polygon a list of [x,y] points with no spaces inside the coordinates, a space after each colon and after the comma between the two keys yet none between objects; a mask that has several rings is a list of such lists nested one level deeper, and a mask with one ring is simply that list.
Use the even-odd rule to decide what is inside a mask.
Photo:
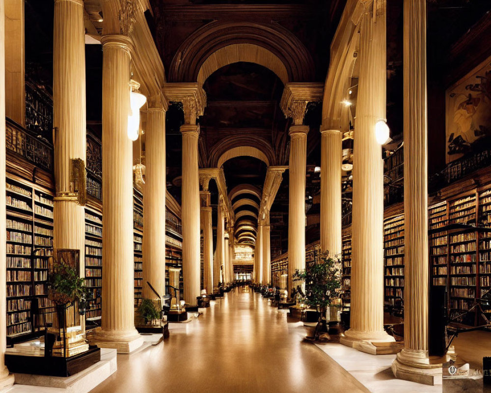
[{"label": "dark arched ceiling running the length of the hall", "polygon": [[[198,119],[199,165],[223,168],[237,240],[241,236],[240,241],[254,243],[266,170],[288,164],[291,120],[279,106],[284,85],[325,80],[328,42],[335,29],[332,21],[343,4],[338,0],[150,2],[167,82],[198,82],[206,93],[207,106]],[[314,124],[314,129],[307,139],[308,154],[320,140],[315,128],[320,118],[320,106],[309,106],[305,124]],[[179,126],[183,121],[180,105],[170,105],[166,114],[169,183],[182,173]],[[310,164],[318,165],[317,161]],[[288,185],[284,183],[272,208],[272,247],[279,252],[287,238]],[[169,191],[180,200],[178,185]],[[212,204],[215,194],[214,189]],[[215,216],[216,210],[214,220]]]}]

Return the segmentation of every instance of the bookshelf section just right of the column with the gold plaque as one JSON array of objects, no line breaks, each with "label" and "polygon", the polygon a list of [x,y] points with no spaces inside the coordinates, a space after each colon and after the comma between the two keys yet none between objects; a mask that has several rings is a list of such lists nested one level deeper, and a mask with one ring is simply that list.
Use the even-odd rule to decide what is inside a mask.
[{"label": "bookshelf section just right of the column with the gold plaque", "polygon": [[86,309],[87,319],[102,315],[102,214],[85,206],[85,285],[91,298]]}]

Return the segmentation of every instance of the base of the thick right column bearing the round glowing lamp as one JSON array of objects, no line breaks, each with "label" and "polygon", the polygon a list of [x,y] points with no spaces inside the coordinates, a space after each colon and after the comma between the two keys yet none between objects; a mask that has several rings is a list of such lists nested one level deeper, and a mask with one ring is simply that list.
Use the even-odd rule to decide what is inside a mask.
[{"label": "base of the thick right column bearing the round glowing lamp", "polygon": [[344,332],[344,336],[339,337],[339,342],[370,355],[390,355],[401,351],[395,338],[385,331],[361,332],[349,329]]}]

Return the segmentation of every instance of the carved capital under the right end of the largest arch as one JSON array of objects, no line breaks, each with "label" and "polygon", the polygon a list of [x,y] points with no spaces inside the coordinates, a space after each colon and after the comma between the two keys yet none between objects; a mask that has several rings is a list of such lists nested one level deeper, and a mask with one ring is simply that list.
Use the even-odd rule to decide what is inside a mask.
[{"label": "carved capital under the right end of the largest arch", "polygon": [[296,125],[303,123],[309,102],[321,102],[324,84],[317,82],[292,82],[285,84],[280,107],[285,117],[291,117]]}]

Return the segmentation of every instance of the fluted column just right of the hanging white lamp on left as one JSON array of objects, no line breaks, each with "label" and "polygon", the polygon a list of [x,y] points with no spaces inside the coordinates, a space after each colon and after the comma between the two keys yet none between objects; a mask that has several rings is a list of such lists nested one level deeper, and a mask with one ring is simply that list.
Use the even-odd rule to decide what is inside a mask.
[{"label": "fluted column just right of the hanging white lamp on left", "polygon": [[150,102],[145,150],[145,212],[143,225],[143,297],[165,295],[165,108]]}]

